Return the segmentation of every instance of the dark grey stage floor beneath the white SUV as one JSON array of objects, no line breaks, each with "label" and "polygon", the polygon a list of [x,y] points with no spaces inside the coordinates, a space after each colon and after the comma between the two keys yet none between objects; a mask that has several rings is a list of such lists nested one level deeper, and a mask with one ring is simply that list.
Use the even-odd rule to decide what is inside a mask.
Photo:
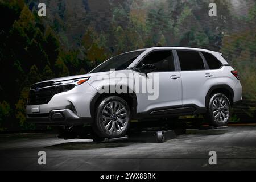
[{"label": "dark grey stage floor beneath the white SUV", "polygon": [[[46,165],[38,152],[46,151]],[[208,152],[217,152],[209,165]],[[164,143],[94,143],[50,133],[0,135],[1,170],[216,170],[256,169],[256,126],[187,130]]]}]

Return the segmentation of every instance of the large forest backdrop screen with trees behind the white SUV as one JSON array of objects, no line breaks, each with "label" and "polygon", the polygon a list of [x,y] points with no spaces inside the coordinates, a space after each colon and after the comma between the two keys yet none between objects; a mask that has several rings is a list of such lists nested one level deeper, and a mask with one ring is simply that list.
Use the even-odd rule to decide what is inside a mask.
[{"label": "large forest backdrop screen with trees behind the white SUV", "polygon": [[[46,16],[38,16],[39,3]],[[216,16],[209,16],[209,4]],[[0,0],[0,131],[34,130],[26,122],[30,86],[88,73],[122,52],[189,46],[223,53],[240,74],[242,105],[231,122],[255,122],[254,0]]]}]

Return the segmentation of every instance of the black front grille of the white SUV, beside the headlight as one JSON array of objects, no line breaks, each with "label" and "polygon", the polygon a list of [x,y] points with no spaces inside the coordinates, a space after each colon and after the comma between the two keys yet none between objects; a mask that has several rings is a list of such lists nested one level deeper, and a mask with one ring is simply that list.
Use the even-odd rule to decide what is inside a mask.
[{"label": "black front grille of the white SUV, beside the headlight", "polygon": [[27,105],[47,104],[55,94],[55,86],[42,88],[39,91],[36,89],[30,90]]}]

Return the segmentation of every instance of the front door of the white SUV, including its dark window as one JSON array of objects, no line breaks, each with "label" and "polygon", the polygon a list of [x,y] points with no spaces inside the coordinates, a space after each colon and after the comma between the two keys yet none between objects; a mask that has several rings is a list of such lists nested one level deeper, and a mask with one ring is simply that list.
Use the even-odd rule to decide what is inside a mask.
[{"label": "front door of the white SUV, including its dark window", "polygon": [[[154,64],[155,69],[145,75],[142,65],[150,64]],[[151,113],[152,110],[182,105],[181,75],[180,72],[175,71],[172,50],[156,50],[148,53],[135,67],[133,73],[138,113]]]}]

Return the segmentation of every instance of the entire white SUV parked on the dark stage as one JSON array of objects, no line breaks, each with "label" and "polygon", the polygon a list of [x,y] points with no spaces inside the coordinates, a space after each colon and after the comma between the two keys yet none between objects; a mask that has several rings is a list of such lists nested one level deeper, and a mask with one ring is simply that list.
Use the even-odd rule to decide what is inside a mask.
[{"label": "entire white SUV parked on the dark stage", "polygon": [[[155,96],[141,91],[144,81],[154,85]],[[152,47],[114,56],[86,75],[32,85],[27,121],[68,127],[92,123],[98,136],[114,138],[125,135],[131,119],[204,114],[211,125],[224,126],[241,100],[238,73],[221,53]]]}]

